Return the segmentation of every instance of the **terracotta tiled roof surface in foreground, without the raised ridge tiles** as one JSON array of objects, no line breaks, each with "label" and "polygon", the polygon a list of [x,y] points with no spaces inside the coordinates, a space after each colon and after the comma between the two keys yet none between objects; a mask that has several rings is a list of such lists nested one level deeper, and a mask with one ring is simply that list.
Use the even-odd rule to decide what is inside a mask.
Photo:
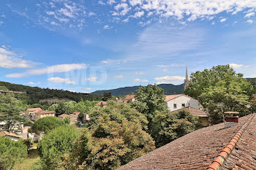
[{"label": "terracotta tiled roof surface in foreground, without the raised ridge tiles", "polygon": [[224,123],[201,128],[149,152],[120,169],[206,169],[233,136],[246,123],[222,169],[256,169],[256,117],[255,114],[239,118],[240,124],[224,128]]}]

